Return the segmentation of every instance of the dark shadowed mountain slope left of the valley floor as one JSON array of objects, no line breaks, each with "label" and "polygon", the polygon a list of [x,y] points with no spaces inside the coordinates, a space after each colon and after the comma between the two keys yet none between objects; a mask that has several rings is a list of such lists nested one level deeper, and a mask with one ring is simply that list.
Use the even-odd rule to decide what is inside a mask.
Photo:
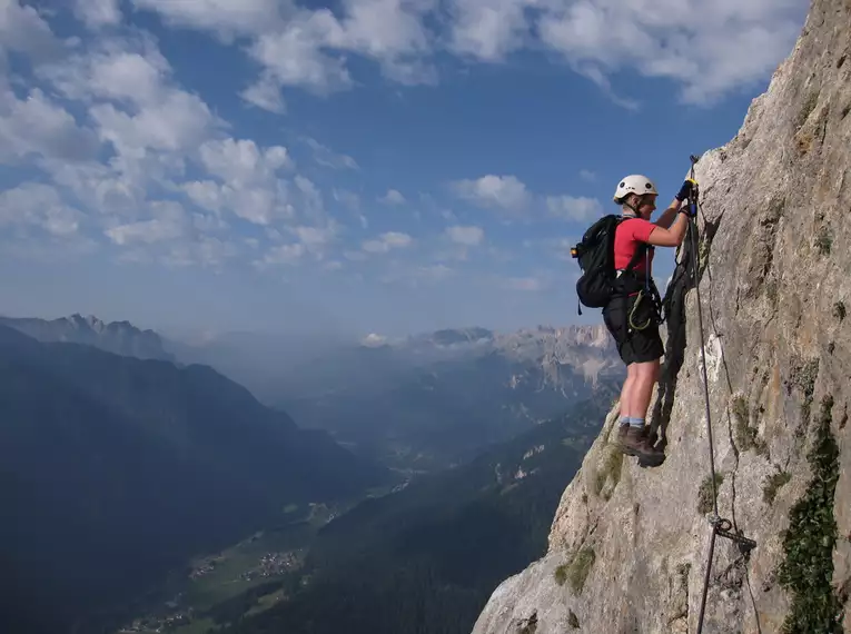
[{"label": "dark shadowed mountain slope left of the valley floor", "polygon": [[212,368],[4,326],[0,412],[3,632],[95,632],[189,556],[389,477]]}]

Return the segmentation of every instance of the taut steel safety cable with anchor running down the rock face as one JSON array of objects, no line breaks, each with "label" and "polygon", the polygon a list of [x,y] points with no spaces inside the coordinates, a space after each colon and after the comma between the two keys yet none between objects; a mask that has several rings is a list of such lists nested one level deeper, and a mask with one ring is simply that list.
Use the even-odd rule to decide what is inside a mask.
[{"label": "taut steel safety cable with anchor running down the rock face", "polygon": [[[694,180],[694,165],[697,162],[699,157],[691,156],[692,161],[692,169],[691,169],[691,178]],[[712,481],[712,505],[713,505],[713,514],[712,517],[710,517],[709,522],[712,525],[712,536],[710,537],[710,549],[709,549],[709,557],[706,559],[706,575],[703,579],[703,594],[701,595],[701,611],[700,616],[697,617],[697,634],[702,634],[703,632],[703,616],[706,608],[706,594],[709,593],[709,584],[710,584],[710,577],[712,575],[712,559],[713,555],[715,554],[715,538],[720,535],[722,537],[726,537],[728,539],[739,544],[740,548],[744,551],[751,551],[752,548],[756,547],[756,542],[753,539],[749,539],[748,537],[744,537],[740,534],[733,533],[733,524],[729,519],[725,519],[721,517],[718,513],[718,491],[715,485],[715,450],[712,444],[712,417],[710,413],[710,396],[709,396],[709,378],[706,375],[706,348],[703,343],[703,314],[701,310],[701,290],[700,290],[700,284],[697,281],[697,266],[700,264],[697,258],[697,222],[696,222],[696,216],[697,216],[697,209],[699,209],[699,189],[695,181],[694,189],[692,191],[692,196],[689,199],[689,206],[691,207],[692,212],[689,215],[689,237],[691,240],[691,251],[692,251],[692,279],[694,281],[694,291],[695,291],[695,298],[697,300],[697,326],[700,328],[701,333],[701,369],[703,375],[703,397],[705,402],[706,407],[706,434],[709,437],[709,449],[710,449],[710,470],[711,470],[711,481]]]}]

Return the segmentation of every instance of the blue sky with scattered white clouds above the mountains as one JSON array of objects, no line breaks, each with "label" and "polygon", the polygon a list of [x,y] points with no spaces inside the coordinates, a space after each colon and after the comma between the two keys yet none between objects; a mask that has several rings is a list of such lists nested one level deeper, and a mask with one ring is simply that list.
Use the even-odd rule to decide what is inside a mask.
[{"label": "blue sky with scattered white clouds above the mountains", "polygon": [[0,0],[0,313],[358,337],[576,323],[567,247],[626,174],[664,207],[805,11]]}]

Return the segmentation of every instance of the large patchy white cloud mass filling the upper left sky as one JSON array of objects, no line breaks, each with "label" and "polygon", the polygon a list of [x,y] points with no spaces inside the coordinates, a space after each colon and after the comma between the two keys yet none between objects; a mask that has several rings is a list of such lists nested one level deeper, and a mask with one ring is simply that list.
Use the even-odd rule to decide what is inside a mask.
[{"label": "large patchy white cloud mass filling the upper left sky", "polygon": [[[225,4],[211,1],[212,9]],[[313,181],[301,175],[284,178],[295,167],[288,150],[222,138],[227,125],[200,97],[176,83],[151,36],[98,31],[120,21],[120,13],[110,13],[113,7],[118,4],[72,6],[97,32],[69,40],[71,55],[46,57],[32,67],[43,91],[31,89],[18,98],[0,79],[0,162],[39,167],[57,186],[31,184],[3,192],[2,224],[14,228],[21,244],[36,227],[62,236],[79,234],[86,225],[100,241],[121,247],[123,261],[218,266],[239,252],[226,235],[230,226],[224,214],[230,212],[269,227],[275,220],[294,222],[290,232],[299,241],[273,252],[273,259],[304,254],[324,259],[339,227],[325,218],[323,194]],[[184,9],[191,12],[188,6]],[[0,70],[6,50],[34,50],[10,29],[57,43],[33,9],[3,7]],[[66,110],[47,97],[51,93],[71,105]],[[79,126],[70,112],[91,128]],[[112,153],[99,162],[95,159],[103,142]],[[314,150],[326,164],[356,167],[350,157],[324,146]],[[181,191],[187,202],[207,212],[189,214],[179,201],[164,199]]]}]

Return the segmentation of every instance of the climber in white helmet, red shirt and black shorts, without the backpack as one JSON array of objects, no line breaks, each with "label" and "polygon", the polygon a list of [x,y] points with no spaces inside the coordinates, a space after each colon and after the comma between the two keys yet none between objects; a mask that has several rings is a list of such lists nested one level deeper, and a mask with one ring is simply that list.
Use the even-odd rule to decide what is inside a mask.
[{"label": "climber in white helmet, red shirt and black shorts, without the backpack", "polygon": [[[621,180],[614,201],[621,206],[624,220],[614,238],[615,293],[603,307],[603,321],[626,364],[626,379],[621,390],[621,416],[616,445],[645,464],[655,466],[664,454],[650,442],[645,417],[653,385],[659,380],[660,359],[664,355],[659,334],[659,293],[652,279],[651,265],[655,247],[679,247],[685,237],[690,215],[693,180],[685,180],[671,205],[655,222],[650,218],[656,209],[656,187],[642,175]],[[636,250],[641,249],[639,254]],[[640,258],[632,270],[624,273],[633,256]]]}]

